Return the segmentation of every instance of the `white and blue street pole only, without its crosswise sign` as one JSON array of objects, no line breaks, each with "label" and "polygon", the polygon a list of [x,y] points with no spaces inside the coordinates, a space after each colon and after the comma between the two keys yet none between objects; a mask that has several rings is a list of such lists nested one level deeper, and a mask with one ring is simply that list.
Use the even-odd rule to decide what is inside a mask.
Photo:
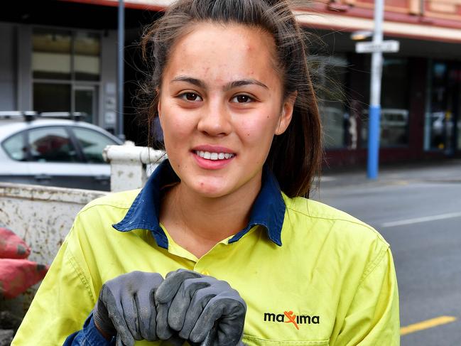
[{"label": "white and blue street pole only, without its crosswise sign", "polygon": [[[373,43],[383,42],[384,0],[374,1],[374,35]],[[375,51],[371,55],[370,109],[368,130],[368,167],[370,179],[378,177],[379,166],[379,117],[381,116],[381,74],[383,70],[383,53]]]}]

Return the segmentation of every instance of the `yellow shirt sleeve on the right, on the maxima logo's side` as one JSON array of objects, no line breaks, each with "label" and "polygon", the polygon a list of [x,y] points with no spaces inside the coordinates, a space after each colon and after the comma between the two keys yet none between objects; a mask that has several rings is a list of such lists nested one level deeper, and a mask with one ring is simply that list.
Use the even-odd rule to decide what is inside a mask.
[{"label": "yellow shirt sleeve on the right, on the maxima logo's side", "polygon": [[340,333],[330,345],[400,345],[398,289],[388,248],[371,264],[359,283]]}]

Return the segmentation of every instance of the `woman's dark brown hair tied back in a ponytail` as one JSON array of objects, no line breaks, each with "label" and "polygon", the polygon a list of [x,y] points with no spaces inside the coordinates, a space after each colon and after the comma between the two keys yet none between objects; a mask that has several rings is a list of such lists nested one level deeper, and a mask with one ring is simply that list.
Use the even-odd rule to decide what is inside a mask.
[{"label": "woman's dark brown hair tied back in a ponytail", "polygon": [[315,175],[320,173],[322,144],[305,33],[291,6],[293,2],[288,0],[176,1],[143,34],[143,59],[150,70],[140,96],[151,126],[157,116],[158,90],[170,51],[193,24],[237,23],[266,31],[276,43],[275,58],[283,81],[283,96],[297,93],[291,124],[283,134],[274,136],[266,164],[276,175],[281,190],[295,197],[308,196]]}]

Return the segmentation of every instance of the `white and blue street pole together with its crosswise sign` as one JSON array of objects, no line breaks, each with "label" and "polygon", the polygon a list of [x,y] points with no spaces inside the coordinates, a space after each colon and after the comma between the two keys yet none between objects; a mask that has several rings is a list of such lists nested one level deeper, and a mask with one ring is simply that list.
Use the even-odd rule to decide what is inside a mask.
[{"label": "white and blue street pole together with its crosswise sign", "polygon": [[368,162],[369,179],[378,177],[379,166],[379,121],[381,117],[381,74],[383,69],[383,52],[397,52],[396,40],[383,40],[384,0],[374,1],[373,41],[359,42],[355,46],[357,53],[371,53],[370,107],[368,121]]}]

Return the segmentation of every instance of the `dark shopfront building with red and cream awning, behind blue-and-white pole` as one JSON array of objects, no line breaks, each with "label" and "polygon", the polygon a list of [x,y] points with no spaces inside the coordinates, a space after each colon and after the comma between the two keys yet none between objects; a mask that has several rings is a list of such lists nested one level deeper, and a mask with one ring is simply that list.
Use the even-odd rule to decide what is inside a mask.
[{"label": "dark shopfront building with red and cream awning, behind blue-and-white pole", "polygon": [[[328,166],[367,160],[371,55],[355,53],[351,33],[372,31],[373,11],[373,0],[325,0],[300,15],[322,43],[313,60]],[[384,54],[380,162],[460,157],[461,0],[386,0],[384,17],[384,39],[401,48]]]}]

